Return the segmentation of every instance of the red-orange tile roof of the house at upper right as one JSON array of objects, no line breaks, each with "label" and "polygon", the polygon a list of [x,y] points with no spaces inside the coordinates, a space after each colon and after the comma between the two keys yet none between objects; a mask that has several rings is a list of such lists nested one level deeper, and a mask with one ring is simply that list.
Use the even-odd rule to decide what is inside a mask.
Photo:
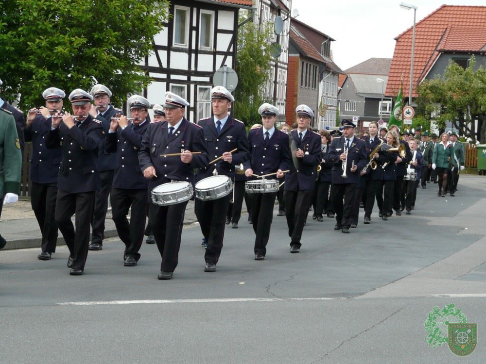
[{"label": "red-orange tile roof of the house at upper right", "polygon": [[[416,23],[413,97],[417,96],[415,88],[433,66],[435,59],[440,54],[439,50],[457,48],[457,50],[465,51],[476,48],[476,51],[479,51],[483,49],[486,43],[483,35],[486,29],[485,19],[486,6],[442,5]],[[455,29],[456,27],[457,29]],[[472,31],[473,28],[476,30]],[[408,97],[412,33],[413,27],[410,27],[395,38],[397,43],[388,74],[385,92],[387,96],[398,94],[400,77],[403,75],[403,97]],[[482,46],[480,45],[481,37],[483,37]]]}]

